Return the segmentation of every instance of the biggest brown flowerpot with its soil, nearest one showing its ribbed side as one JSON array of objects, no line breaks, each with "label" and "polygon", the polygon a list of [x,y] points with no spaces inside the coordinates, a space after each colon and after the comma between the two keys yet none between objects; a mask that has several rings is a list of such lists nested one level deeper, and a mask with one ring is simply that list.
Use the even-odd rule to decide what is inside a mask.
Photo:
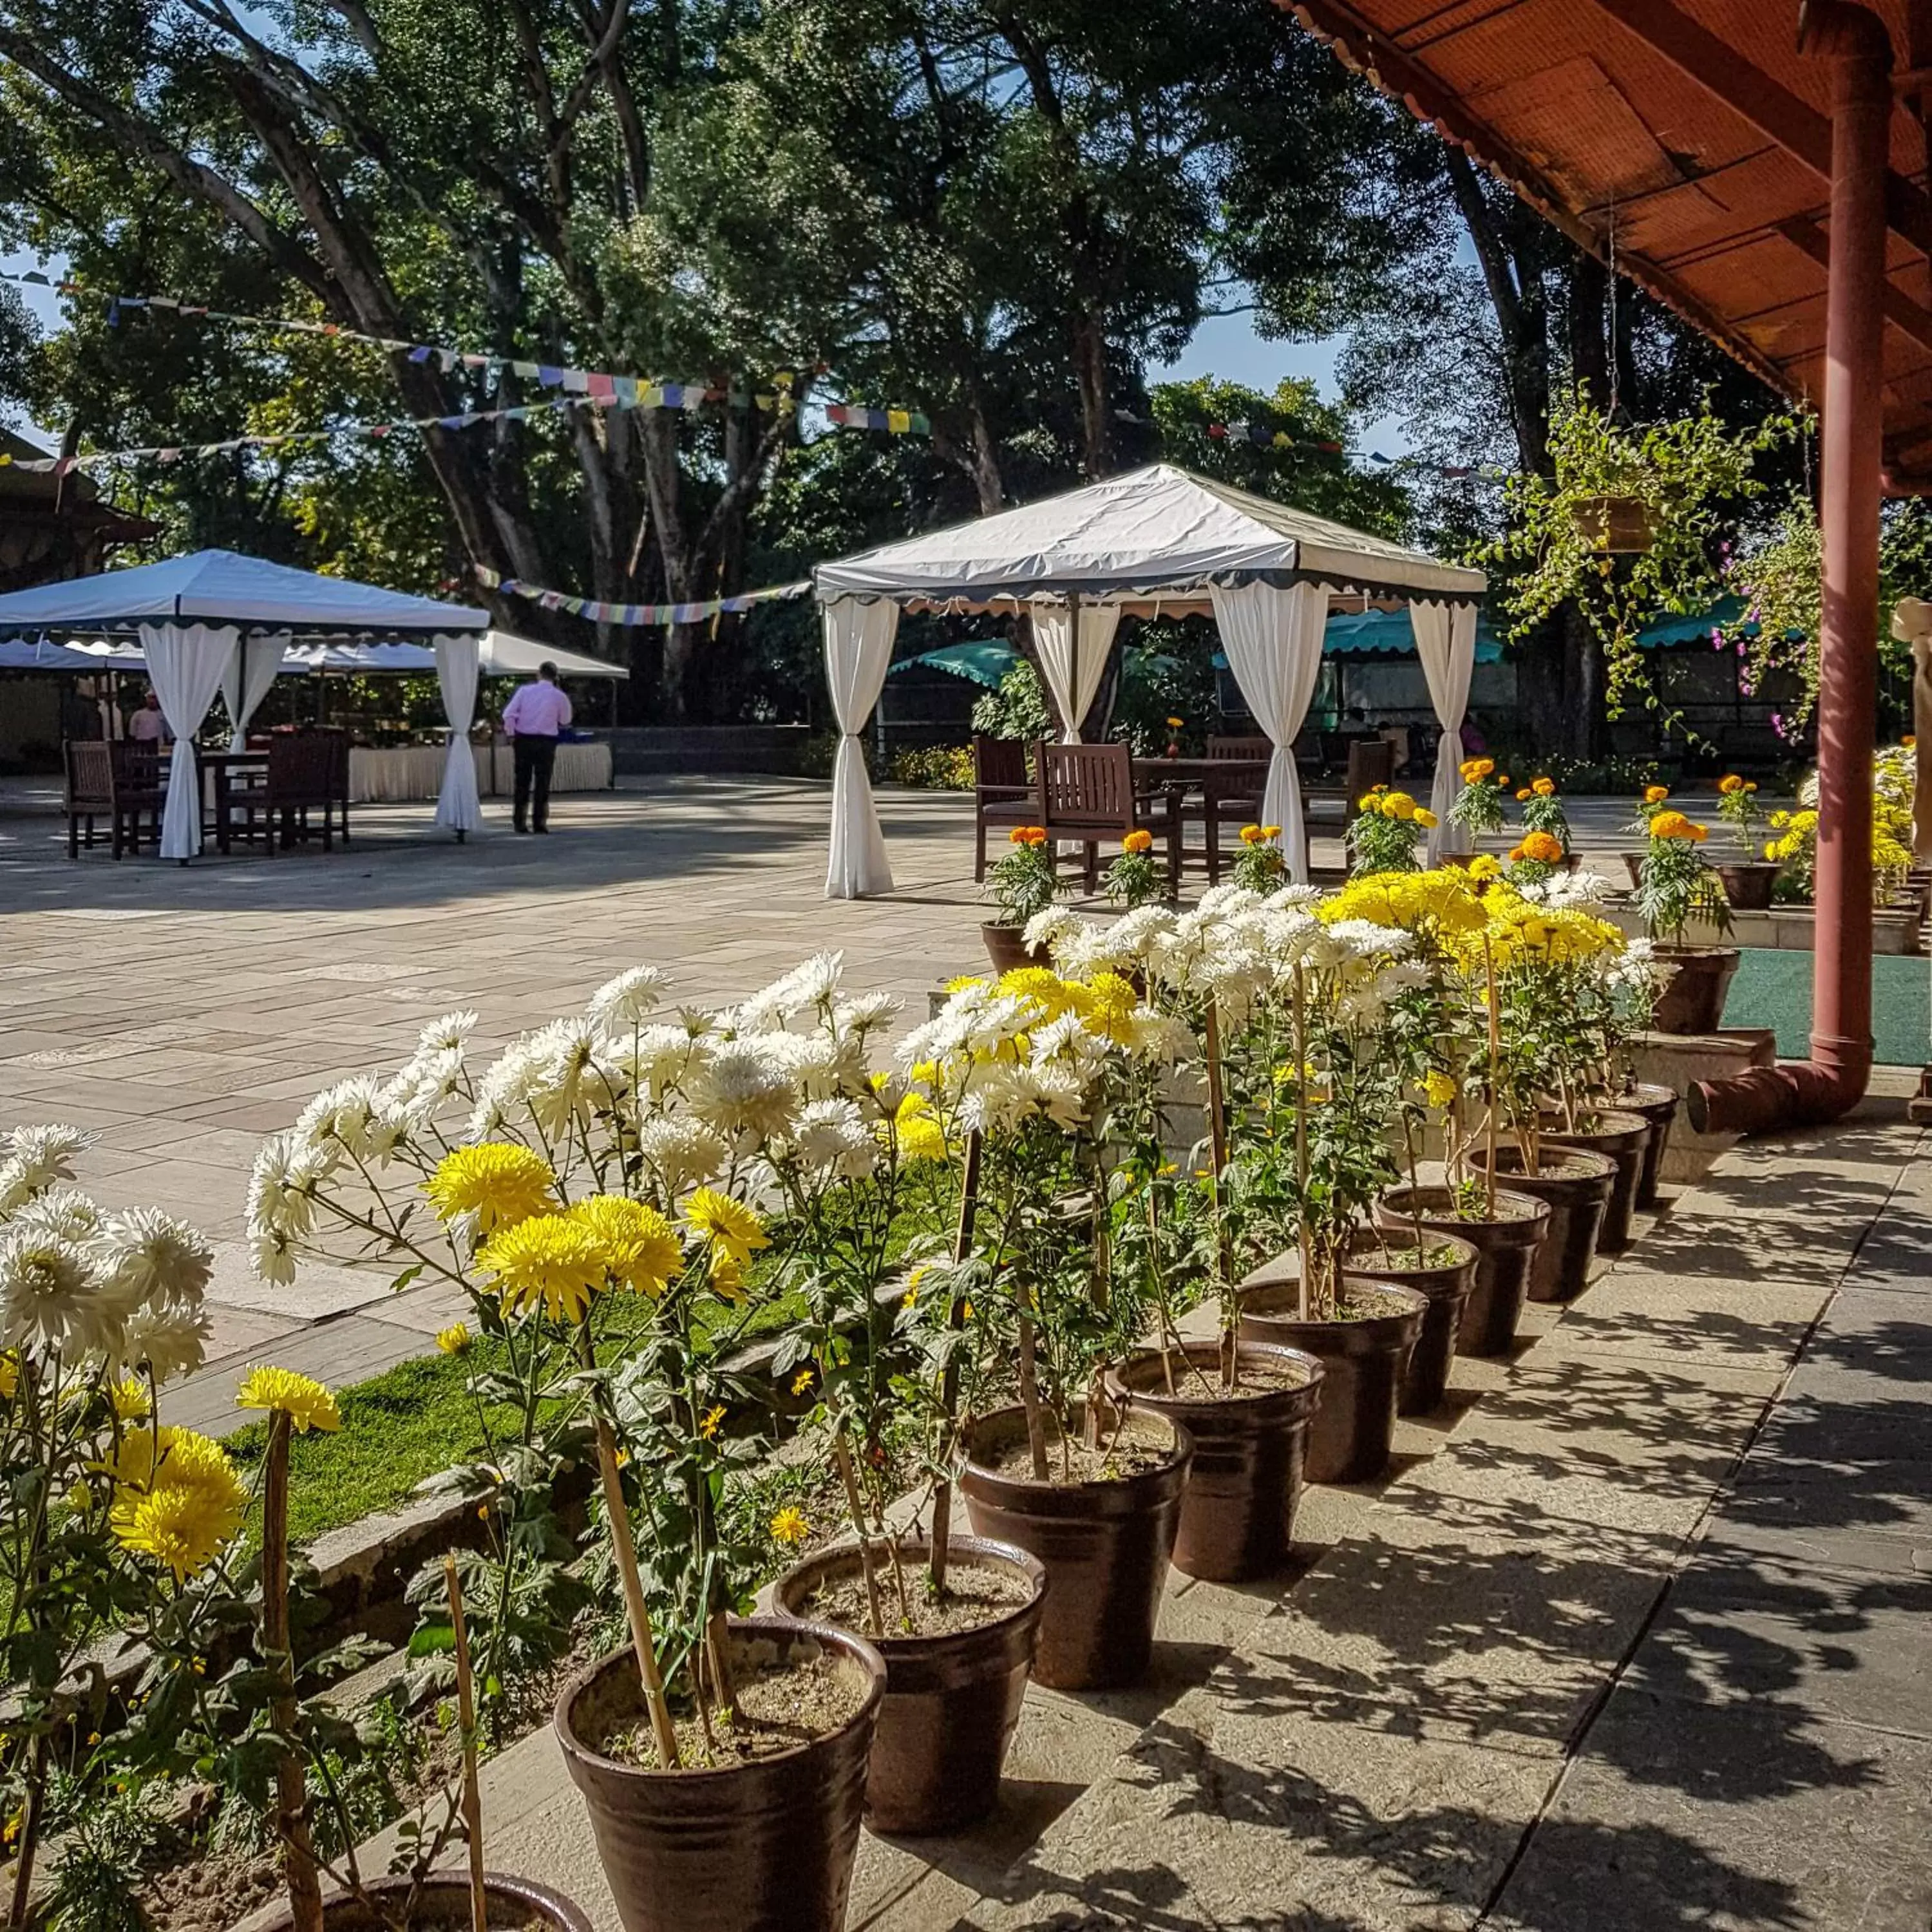
[{"label": "biggest brown flowerpot with its soil, nearest one showing its ribbed side", "polygon": [[618,1918],[624,1932],[840,1932],[885,1660],[848,1631],[782,1617],[732,1623],[730,1646],[730,1762],[639,1762],[651,1733],[628,1650],[556,1700]]}]

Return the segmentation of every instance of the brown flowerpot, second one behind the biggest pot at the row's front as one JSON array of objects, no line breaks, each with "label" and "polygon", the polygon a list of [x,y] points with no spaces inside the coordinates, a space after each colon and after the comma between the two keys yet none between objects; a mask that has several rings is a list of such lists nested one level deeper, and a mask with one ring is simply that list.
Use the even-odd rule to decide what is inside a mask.
[{"label": "brown flowerpot, second one behind the biggest pot at the row's front", "polygon": [[1194,1443],[1159,1416],[1136,1416],[1128,1428],[1157,1432],[1167,1461],[1117,1482],[1034,1482],[989,1468],[981,1457],[1026,1441],[1024,1408],[995,1410],[966,1439],[960,1492],[974,1536],[1012,1544],[1047,1573],[1034,1681],[1049,1690],[1140,1683],[1153,1656]]}]

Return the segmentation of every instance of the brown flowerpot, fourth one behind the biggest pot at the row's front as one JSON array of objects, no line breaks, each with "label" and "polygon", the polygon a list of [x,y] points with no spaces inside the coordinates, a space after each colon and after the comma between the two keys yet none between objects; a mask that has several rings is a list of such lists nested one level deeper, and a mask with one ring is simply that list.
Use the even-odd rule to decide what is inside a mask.
[{"label": "brown flowerpot, fourth one behind the biggest pot at the row's front", "polygon": [[[1296,1256],[1287,1256],[1294,1264]],[[1428,1300],[1387,1275],[1349,1275],[1345,1293],[1397,1302],[1358,1321],[1304,1321],[1294,1308],[1300,1283],[1273,1281],[1242,1291],[1240,1339],[1300,1349],[1321,1364],[1321,1406],[1308,1432],[1308,1482],[1374,1482],[1389,1466],[1395,1405],[1408,1356],[1422,1333]]]}]

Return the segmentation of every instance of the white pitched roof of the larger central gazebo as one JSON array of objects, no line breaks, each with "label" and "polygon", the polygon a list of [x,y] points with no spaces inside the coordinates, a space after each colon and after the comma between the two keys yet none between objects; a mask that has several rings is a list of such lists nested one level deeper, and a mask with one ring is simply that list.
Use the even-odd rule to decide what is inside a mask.
[{"label": "white pitched roof of the larger central gazebo", "polygon": [[1480,570],[1173,464],[819,564],[811,582],[819,603],[858,597],[900,605],[1066,595],[1109,603],[1159,597],[1171,605],[1177,595],[1206,597],[1217,583],[1327,583],[1424,601],[1488,589]]}]

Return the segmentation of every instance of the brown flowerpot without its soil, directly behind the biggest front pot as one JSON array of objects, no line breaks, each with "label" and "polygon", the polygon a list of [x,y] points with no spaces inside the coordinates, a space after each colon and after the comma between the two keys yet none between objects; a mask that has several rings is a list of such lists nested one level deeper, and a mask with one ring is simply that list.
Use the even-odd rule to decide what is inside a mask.
[{"label": "brown flowerpot without its soil, directly behind the biggest front pot", "polygon": [[[923,1542],[898,1546],[898,1561],[912,1573],[908,1592],[925,1586],[929,1555],[931,1546]],[[972,1631],[943,1636],[858,1633],[885,1658],[885,1702],[866,1774],[866,1824],[873,1832],[956,1832],[978,1824],[999,1803],[999,1772],[1034,1667],[1047,1573],[1024,1549],[978,1536],[954,1536],[947,1565],[947,1575],[1003,1571],[1024,1582],[1030,1596]],[[877,1569],[891,1625],[895,1594],[883,1553]],[[808,1617],[819,1584],[858,1575],[858,1549],[821,1549],[779,1578],[779,1607],[790,1617]]]}]

